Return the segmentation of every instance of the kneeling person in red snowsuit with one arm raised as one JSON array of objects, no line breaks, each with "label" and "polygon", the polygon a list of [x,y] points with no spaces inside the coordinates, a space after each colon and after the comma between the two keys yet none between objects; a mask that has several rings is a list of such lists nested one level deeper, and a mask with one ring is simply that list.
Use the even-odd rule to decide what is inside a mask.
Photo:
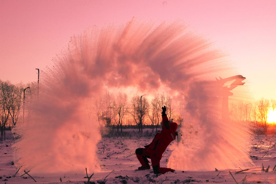
[{"label": "kneeling person in red snowsuit with one arm raised", "polygon": [[174,172],[171,168],[162,168],[160,167],[160,159],[162,158],[163,153],[169,146],[169,144],[175,140],[177,135],[177,124],[173,122],[169,122],[166,107],[162,107],[162,130],[159,130],[154,136],[152,142],[145,146],[145,148],[136,149],[135,153],[142,164],[138,170],[146,170],[150,169],[149,161],[147,158],[151,159],[151,164],[153,168],[153,172],[155,174],[164,174],[166,172]]}]

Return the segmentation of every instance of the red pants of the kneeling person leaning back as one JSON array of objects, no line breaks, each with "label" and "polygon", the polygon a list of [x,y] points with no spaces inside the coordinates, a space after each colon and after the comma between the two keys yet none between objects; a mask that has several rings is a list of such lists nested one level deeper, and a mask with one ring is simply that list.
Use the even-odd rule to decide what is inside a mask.
[{"label": "red pants of the kneeling person leaning back", "polygon": [[160,167],[160,158],[156,156],[156,154],[153,154],[152,151],[147,148],[138,148],[136,149],[135,153],[142,166],[148,165],[149,161],[147,158],[150,158],[153,172],[156,174],[164,174],[166,172],[173,171],[171,168]]}]

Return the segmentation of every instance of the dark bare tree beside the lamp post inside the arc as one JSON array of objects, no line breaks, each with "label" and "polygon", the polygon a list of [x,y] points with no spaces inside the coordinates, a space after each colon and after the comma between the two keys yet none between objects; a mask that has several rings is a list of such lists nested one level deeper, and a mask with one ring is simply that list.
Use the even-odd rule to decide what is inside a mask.
[{"label": "dark bare tree beside the lamp post inside the arc", "polygon": [[[142,103],[141,103],[142,102]],[[145,119],[145,115],[147,114],[149,103],[146,98],[142,99],[142,96],[134,96],[131,100],[132,110],[130,114],[134,119],[135,123],[139,127],[139,132],[143,132],[143,121]]]}]

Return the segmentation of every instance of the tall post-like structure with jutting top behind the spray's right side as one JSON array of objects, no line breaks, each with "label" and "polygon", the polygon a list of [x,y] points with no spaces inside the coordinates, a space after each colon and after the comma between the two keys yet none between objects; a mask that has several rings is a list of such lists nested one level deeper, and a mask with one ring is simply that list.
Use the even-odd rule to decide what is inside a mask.
[{"label": "tall post-like structure with jutting top behind the spray's right side", "polygon": [[[233,93],[231,92],[232,89],[236,88],[239,85],[245,84],[245,82],[242,82],[246,78],[242,75],[236,75],[232,77],[228,77],[225,79],[217,79],[217,82],[219,84],[220,90],[221,90],[221,96],[222,96],[222,112],[221,112],[221,118],[222,120],[228,120],[229,119],[229,96],[233,96]],[[234,82],[230,85],[230,87],[224,86],[226,82],[233,81]]]}]

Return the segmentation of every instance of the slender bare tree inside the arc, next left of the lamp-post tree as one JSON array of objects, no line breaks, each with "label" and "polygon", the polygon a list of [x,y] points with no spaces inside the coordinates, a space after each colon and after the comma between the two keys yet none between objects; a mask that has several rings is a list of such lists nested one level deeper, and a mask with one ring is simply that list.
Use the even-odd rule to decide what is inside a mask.
[{"label": "slender bare tree inside the arc, next left of the lamp-post tree", "polygon": [[127,95],[119,93],[116,100],[113,102],[113,118],[114,122],[117,124],[117,132],[119,133],[119,127],[121,127],[121,137],[123,129],[123,118],[127,113]]}]

